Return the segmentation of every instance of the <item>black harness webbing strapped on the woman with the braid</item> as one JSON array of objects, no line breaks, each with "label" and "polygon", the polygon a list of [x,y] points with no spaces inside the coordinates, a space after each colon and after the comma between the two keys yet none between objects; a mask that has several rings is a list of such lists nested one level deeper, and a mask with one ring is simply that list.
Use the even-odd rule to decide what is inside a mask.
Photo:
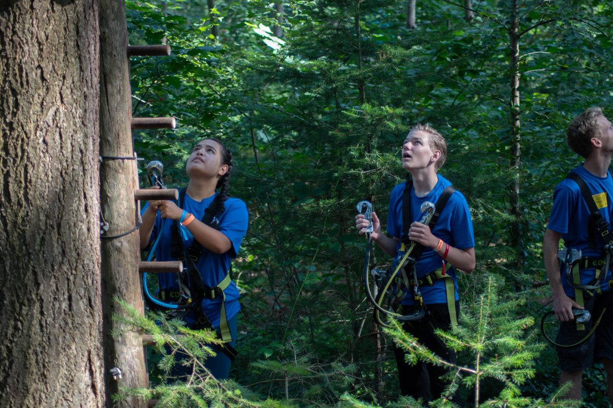
[{"label": "black harness webbing strapped on the woman with the braid", "polygon": [[[180,208],[183,208],[182,206],[185,202],[185,191],[186,188],[181,188],[179,190],[178,206]],[[211,228],[215,229],[219,229],[219,221],[217,220],[217,218],[215,218],[218,208],[218,197],[219,196],[216,196],[215,199],[213,199],[213,202],[211,202],[210,206],[205,210],[204,216],[202,217],[202,223],[207,224]],[[231,281],[230,275],[229,273],[227,273],[226,277],[218,284],[218,286],[205,286],[204,282],[202,281],[200,271],[196,266],[196,262],[200,258],[200,256],[208,256],[210,251],[203,248],[202,245],[200,245],[200,243],[197,242],[196,239],[194,239],[194,242],[189,246],[189,248],[186,248],[183,239],[181,239],[179,235],[179,228],[179,221],[175,220],[171,228],[170,248],[171,252],[173,253],[173,258],[177,258],[181,262],[183,262],[183,266],[185,267],[185,269],[187,269],[188,281],[184,283],[184,285],[186,284],[187,289],[189,289],[189,292],[192,296],[192,301],[194,303],[194,317],[196,317],[196,321],[191,328],[192,330],[208,329],[215,331],[213,324],[211,324],[211,321],[204,314],[204,311],[202,311],[202,300],[216,299],[216,297],[219,296],[223,297],[223,300],[221,302],[221,313],[219,317],[220,333],[217,333],[216,331],[215,332],[217,333],[218,338],[224,341],[224,343],[219,346],[221,348],[221,351],[225,355],[227,355],[230,360],[234,361],[237,355],[237,351],[234,349],[234,347],[229,345],[229,342],[232,341],[232,335],[230,334],[230,329],[227,323],[226,295],[224,294],[224,290],[226,289],[226,287],[229,286]],[[181,253],[176,252],[177,248],[181,248]],[[175,251],[173,251],[173,249]]]}]

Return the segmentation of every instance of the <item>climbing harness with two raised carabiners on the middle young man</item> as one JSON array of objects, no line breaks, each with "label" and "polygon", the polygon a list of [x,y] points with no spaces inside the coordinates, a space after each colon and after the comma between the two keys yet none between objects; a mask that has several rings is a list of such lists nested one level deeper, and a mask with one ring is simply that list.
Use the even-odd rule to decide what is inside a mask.
[{"label": "climbing harness with two raised carabiners on the middle young man", "polygon": [[[366,294],[368,300],[375,306],[374,319],[378,325],[383,327],[389,327],[388,324],[383,322],[381,319],[381,313],[387,314],[388,316],[394,317],[400,322],[414,322],[420,321],[424,319],[424,317],[429,316],[429,312],[427,310],[426,305],[421,297],[421,291],[419,290],[420,284],[424,283],[428,284],[428,286],[432,286],[435,281],[439,279],[444,279],[446,283],[446,294],[447,294],[447,305],[449,306],[450,302],[452,306],[449,306],[449,312],[452,319],[452,324],[457,325],[457,313],[455,313],[455,285],[453,278],[449,276],[445,272],[445,263],[443,261],[443,266],[435,270],[433,272],[428,273],[425,276],[422,276],[421,280],[417,278],[417,259],[424,252],[425,247],[420,243],[417,243],[413,240],[410,240],[408,237],[408,229],[411,225],[411,188],[413,187],[412,180],[408,179],[405,184],[405,189],[403,192],[403,227],[406,228],[406,234],[403,234],[400,237],[401,251],[404,252],[402,258],[399,258],[398,261],[392,265],[389,271],[381,270],[381,269],[373,269],[368,273],[370,269],[370,233],[373,231],[372,229],[372,204],[368,201],[360,201],[357,204],[357,211],[361,214],[364,214],[364,217],[368,220],[368,227],[365,230],[366,233],[366,251],[364,254],[364,286],[366,289]],[[427,225],[430,229],[434,228],[436,221],[444,207],[451,197],[452,193],[455,191],[455,188],[451,185],[447,187],[441,196],[436,201],[436,204],[432,204],[430,201],[425,201],[422,203],[420,207],[420,212],[422,214],[419,223]],[[393,270],[393,272],[391,272]],[[413,279],[410,279],[407,271],[410,271]],[[369,276],[373,276],[375,278],[375,294],[370,289]],[[400,277],[398,277],[400,276]],[[392,284],[395,283],[395,289],[391,289]],[[406,288],[406,291],[403,290],[403,284]],[[451,284],[451,285],[450,285]],[[451,287],[451,296],[450,296],[450,288]],[[406,294],[412,291],[413,292],[413,301],[415,303],[415,310],[410,314],[402,314],[402,300],[405,298]],[[384,299],[387,297],[387,310],[383,308]],[[451,299],[451,300],[450,300]]]}]

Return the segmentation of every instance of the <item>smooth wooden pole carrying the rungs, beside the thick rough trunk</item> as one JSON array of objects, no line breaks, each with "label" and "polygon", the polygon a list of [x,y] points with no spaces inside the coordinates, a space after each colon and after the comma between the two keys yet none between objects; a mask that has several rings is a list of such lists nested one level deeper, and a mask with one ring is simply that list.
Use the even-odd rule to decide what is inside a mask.
[{"label": "smooth wooden pole carrying the rungs, beside the thick rough trunk", "polygon": [[[131,86],[130,61],[126,54],[128,29],[123,0],[100,0],[100,196],[104,220],[109,223],[105,236],[118,236],[137,225],[140,214],[134,201],[138,186],[136,160],[111,157],[134,157],[130,127]],[[113,314],[121,313],[117,297],[144,313],[139,279],[139,232],[102,239],[102,299],[104,311],[104,355],[107,401],[119,387],[147,388],[149,379],[142,339],[128,333],[113,336],[121,330],[113,322]],[[121,379],[113,379],[109,370],[121,369]],[[147,407],[147,401],[131,398],[117,407]]]}]

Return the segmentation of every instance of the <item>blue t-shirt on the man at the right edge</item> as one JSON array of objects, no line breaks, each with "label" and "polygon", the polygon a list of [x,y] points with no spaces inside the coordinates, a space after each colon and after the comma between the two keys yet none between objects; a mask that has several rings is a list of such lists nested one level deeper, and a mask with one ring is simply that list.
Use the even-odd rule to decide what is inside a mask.
[{"label": "blue t-shirt on the man at the right edge", "polygon": [[[579,174],[584,180],[587,187],[592,193],[596,206],[600,209],[600,213],[611,228],[611,220],[613,220],[613,180],[611,173],[607,171],[606,177],[597,177],[587,171],[583,165],[577,167],[573,172]],[[596,245],[598,248],[589,248],[589,217],[590,210],[581,189],[576,182],[570,179],[564,179],[554,190],[554,206],[551,209],[551,217],[547,228],[552,231],[562,234],[564,245],[566,248],[581,250],[582,256],[603,256],[604,240],[598,234],[596,236]],[[574,289],[568,284],[565,276],[565,265],[560,262],[560,273],[562,274],[562,286],[566,295],[574,297]],[[581,284],[588,284],[595,276],[595,269],[581,269]],[[601,281],[601,290],[608,291],[608,282],[611,279],[611,270],[607,271]]]}]

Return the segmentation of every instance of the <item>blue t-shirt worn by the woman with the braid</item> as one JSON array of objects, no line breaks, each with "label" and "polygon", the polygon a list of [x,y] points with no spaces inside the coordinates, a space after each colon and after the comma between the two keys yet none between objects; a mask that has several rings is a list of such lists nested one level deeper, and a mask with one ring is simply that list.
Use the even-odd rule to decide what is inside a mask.
[{"label": "blue t-shirt worn by the woman with the braid", "polygon": [[[214,195],[203,199],[202,201],[196,201],[185,195],[185,202],[181,206],[186,212],[194,214],[197,220],[202,220],[205,209],[210,206],[213,198],[218,195],[215,192]],[[143,208],[142,212],[147,210],[148,204]],[[156,259],[158,261],[176,261],[177,259],[170,256],[170,226],[172,226],[173,220],[166,220],[164,225],[164,231],[156,247]],[[228,237],[232,247],[229,251],[223,254],[216,254],[212,251],[208,251],[202,247],[202,255],[198,259],[196,266],[202,276],[204,286],[214,287],[217,286],[225,277],[230,269],[230,262],[233,258],[236,258],[238,250],[240,249],[240,243],[243,240],[247,232],[248,224],[248,212],[247,206],[243,201],[237,198],[228,198],[224,202],[224,212],[219,217],[219,231]],[[150,241],[153,242],[158,236],[158,231],[162,226],[162,219],[158,213],[153,226],[153,232],[151,232]],[[187,232],[188,239],[186,245],[189,247],[193,242],[193,237],[187,231],[187,228],[180,226],[184,232]],[[177,275],[175,273],[158,273],[159,285],[162,289],[177,289]],[[238,288],[234,281],[230,283],[230,286],[224,291],[226,294],[226,316],[230,320],[232,317],[238,314],[240,310],[240,303],[238,303]],[[219,327],[219,314],[221,311],[221,302],[223,297],[219,296],[216,299],[204,299],[202,301],[202,311],[211,321],[214,327]],[[188,314],[183,318],[189,325],[194,322],[194,314]]]}]

